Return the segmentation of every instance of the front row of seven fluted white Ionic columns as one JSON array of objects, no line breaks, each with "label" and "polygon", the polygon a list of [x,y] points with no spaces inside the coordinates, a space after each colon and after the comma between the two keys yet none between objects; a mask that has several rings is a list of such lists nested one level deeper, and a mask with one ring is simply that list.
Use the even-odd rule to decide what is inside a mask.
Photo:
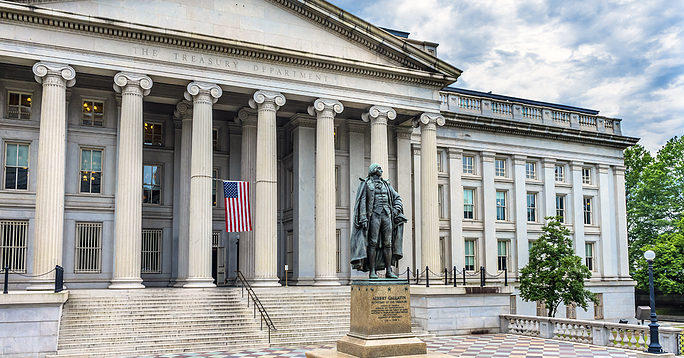
[{"label": "front row of seven fluted white Ionic columns", "polygon": [[[33,272],[50,271],[62,261],[64,181],[66,152],[66,88],[76,72],[64,64],[36,63],[36,80],[43,84],[40,142],[37,165],[36,229]],[[140,277],[142,242],[143,97],[153,81],[144,74],[120,72],[114,89],[121,94],[117,128],[118,163],[115,198],[115,258],[109,288],[144,288]],[[176,287],[213,287],[211,276],[212,109],[222,96],[215,83],[191,82],[176,106],[182,121],[178,278]],[[254,286],[278,286],[277,276],[277,133],[276,113],[286,103],[283,94],[257,90],[249,107],[238,112],[242,125],[241,179],[251,190],[253,232],[242,233],[240,269]],[[335,99],[319,98],[309,107],[316,117],[316,218],[314,285],[339,285],[335,250],[335,149],[334,118],[344,106]],[[390,107],[371,106],[362,116],[371,122],[371,160],[387,173],[387,123],[396,118]],[[424,113],[414,123],[421,128],[421,228],[424,263],[439,262],[436,126],[438,113]],[[404,136],[410,139],[409,136]],[[410,143],[409,141],[406,141]],[[409,144],[410,145],[410,144]],[[403,147],[402,147],[403,148]],[[409,149],[410,150],[410,149]],[[186,177],[187,176],[187,177]],[[410,178],[399,175],[400,186]],[[408,193],[407,193],[408,194]],[[257,212],[258,215],[254,215]],[[405,240],[408,241],[408,240]],[[436,265],[435,265],[436,267]],[[54,287],[54,273],[31,281],[29,289]]]}]

